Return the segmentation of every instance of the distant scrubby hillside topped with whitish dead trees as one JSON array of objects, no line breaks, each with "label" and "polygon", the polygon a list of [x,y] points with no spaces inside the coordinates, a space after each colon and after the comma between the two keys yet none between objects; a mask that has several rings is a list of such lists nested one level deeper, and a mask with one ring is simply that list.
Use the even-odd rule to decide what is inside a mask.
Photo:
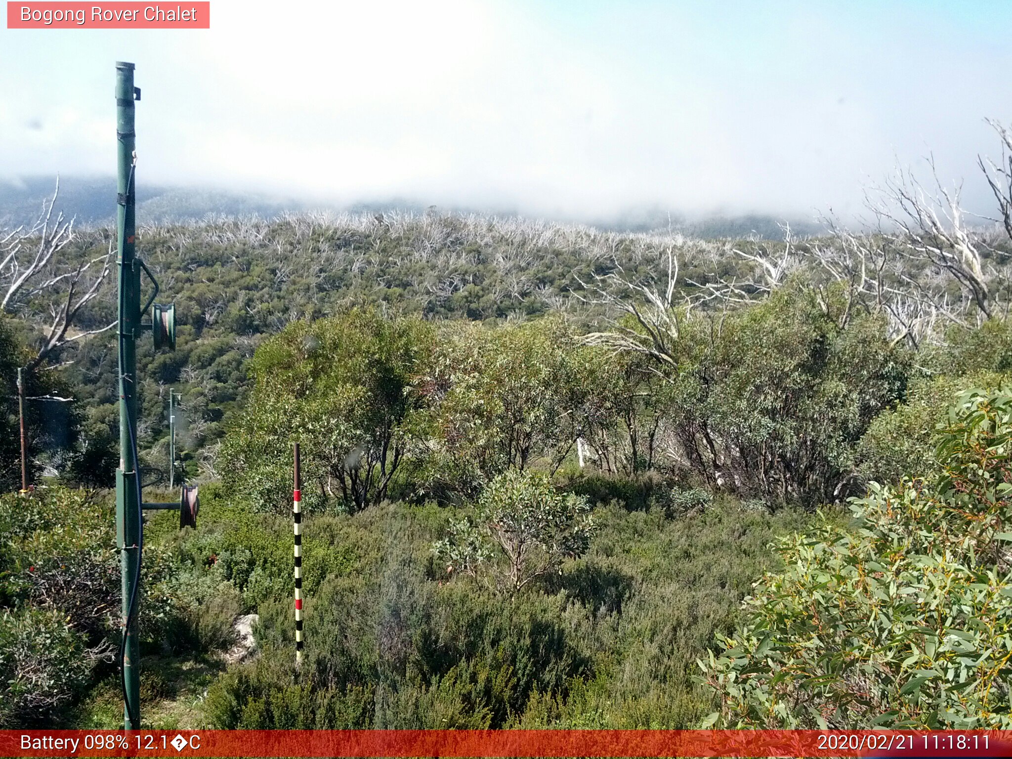
[{"label": "distant scrubby hillside topped with whitish dead trees", "polygon": [[[78,233],[68,253],[78,260],[102,255],[109,234]],[[698,287],[689,279],[708,282],[747,270],[736,246],[770,255],[778,247],[515,219],[390,214],[225,219],[148,227],[140,235],[162,286],[159,300],[175,303],[180,325],[174,353],[156,357],[150,343],[140,348],[146,368],[141,445],[152,448],[164,437],[168,388],[181,390],[194,476],[201,466],[214,469],[210,446],[247,387],[245,360],[263,335],[290,322],[375,305],[391,314],[490,323],[561,312],[584,329],[607,313],[599,299],[588,298],[586,283],[618,267],[632,277],[650,276],[663,265],[664,252],[677,247],[685,257],[680,288],[692,292]],[[114,319],[114,296],[106,286],[80,329]],[[44,313],[46,306],[35,308]],[[109,441],[115,436],[112,346],[111,335],[99,335],[68,350],[74,363],[65,373],[82,395],[96,440],[102,425]],[[149,465],[161,466],[158,458]]]}]

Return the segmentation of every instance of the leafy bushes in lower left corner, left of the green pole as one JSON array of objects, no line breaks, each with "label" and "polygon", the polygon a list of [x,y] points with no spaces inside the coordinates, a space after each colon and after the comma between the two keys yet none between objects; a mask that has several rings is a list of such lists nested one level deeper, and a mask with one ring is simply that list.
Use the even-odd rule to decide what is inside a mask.
[{"label": "leafy bushes in lower left corner, left of the green pole", "polygon": [[48,724],[110,661],[114,523],[84,491],[0,495],[0,725]]}]

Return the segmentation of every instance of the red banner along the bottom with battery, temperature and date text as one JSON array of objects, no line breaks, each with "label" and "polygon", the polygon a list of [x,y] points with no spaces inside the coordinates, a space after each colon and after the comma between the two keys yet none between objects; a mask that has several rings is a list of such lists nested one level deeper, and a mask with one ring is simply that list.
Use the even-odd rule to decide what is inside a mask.
[{"label": "red banner along the bottom with battery, temperature and date text", "polygon": [[1012,731],[7,730],[0,756],[915,759],[1012,756]]}]

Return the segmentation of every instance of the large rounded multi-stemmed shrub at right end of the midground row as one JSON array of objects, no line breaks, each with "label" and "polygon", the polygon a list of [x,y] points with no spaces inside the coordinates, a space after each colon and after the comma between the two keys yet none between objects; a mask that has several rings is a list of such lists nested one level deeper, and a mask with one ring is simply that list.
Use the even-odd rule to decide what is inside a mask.
[{"label": "large rounded multi-stemmed shrub at right end of the midground row", "polygon": [[679,310],[656,337],[631,319],[625,339],[660,351],[671,466],[711,489],[814,507],[855,492],[854,446],[905,392],[910,355],[880,316],[838,288],[790,282],[730,312]]}]

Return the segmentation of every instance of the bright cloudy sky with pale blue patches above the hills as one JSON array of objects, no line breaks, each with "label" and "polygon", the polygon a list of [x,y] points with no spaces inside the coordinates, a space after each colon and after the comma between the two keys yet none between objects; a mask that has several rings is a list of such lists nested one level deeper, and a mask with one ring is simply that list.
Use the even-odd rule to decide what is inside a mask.
[{"label": "bright cloudy sky with pale blue patches above the hills", "polygon": [[0,179],[141,181],[604,219],[809,217],[928,152],[946,182],[1012,122],[1010,2],[213,0],[209,30],[0,29]]}]

